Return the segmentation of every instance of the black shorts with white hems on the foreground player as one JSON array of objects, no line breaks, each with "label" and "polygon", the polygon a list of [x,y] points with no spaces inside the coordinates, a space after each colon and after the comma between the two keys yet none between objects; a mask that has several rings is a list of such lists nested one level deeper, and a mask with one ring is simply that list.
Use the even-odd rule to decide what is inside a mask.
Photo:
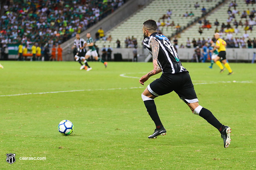
[{"label": "black shorts with white hems on the foreground player", "polygon": [[188,71],[176,74],[163,73],[160,78],[150,83],[147,88],[156,97],[174,91],[185,103],[198,102]]}]

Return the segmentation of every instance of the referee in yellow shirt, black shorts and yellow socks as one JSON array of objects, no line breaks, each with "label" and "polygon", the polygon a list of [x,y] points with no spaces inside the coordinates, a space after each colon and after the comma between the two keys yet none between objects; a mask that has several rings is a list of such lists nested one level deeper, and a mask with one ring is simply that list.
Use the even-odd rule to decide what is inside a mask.
[{"label": "referee in yellow shirt, black shorts and yellow socks", "polygon": [[228,69],[228,75],[233,74],[233,71],[231,70],[229,64],[227,63],[227,59],[226,59],[226,46],[227,43],[226,41],[222,40],[220,38],[220,34],[219,33],[215,33],[214,37],[216,39],[216,45],[214,46],[213,50],[218,49],[218,56],[214,59],[214,62],[220,67],[220,73],[223,73],[223,71],[225,70],[225,68],[222,66],[222,64],[220,63],[219,60],[221,60],[221,62],[224,64],[224,66]]}]

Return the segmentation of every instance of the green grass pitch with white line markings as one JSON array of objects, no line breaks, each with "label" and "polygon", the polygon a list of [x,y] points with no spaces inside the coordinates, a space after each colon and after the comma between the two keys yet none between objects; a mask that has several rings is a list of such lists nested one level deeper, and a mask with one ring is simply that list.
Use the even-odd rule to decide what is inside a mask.
[{"label": "green grass pitch with white line markings", "polygon": [[[90,62],[89,72],[77,62],[0,63],[0,169],[256,169],[253,64],[230,63],[234,74],[228,76],[217,65],[183,63],[199,104],[232,129],[224,148],[217,129],[175,92],[155,99],[167,135],[148,140],[155,126],[141,93],[160,74],[145,86],[139,78],[152,63],[110,62],[105,69]],[[60,92],[71,90],[85,91]],[[5,96],[24,93],[32,94]],[[58,132],[64,119],[74,124],[69,136]],[[10,152],[13,164],[6,162]]]}]

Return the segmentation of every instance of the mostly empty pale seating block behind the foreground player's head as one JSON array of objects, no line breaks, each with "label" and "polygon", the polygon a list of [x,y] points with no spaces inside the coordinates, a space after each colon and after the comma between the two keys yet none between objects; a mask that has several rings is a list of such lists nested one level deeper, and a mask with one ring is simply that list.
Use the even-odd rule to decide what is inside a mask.
[{"label": "mostly empty pale seating block behind the foreground player's head", "polygon": [[[179,24],[180,29],[187,27],[193,21],[202,16],[203,13],[210,11],[223,0],[214,1],[198,1],[198,0],[154,0],[147,7],[133,14],[130,18],[115,26],[113,29],[106,33],[106,36],[112,36],[112,41],[97,41],[97,45],[101,48],[103,45],[110,45],[112,48],[116,48],[117,39],[120,41],[121,48],[125,47],[125,39],[133,36],[138,43],[138,47],[141,47],[143,41],[142,36],[142,23],[147,19],[154,19],[161,23],[171,24],[174,22],[174,26],[159,26],[159,31],[163,32],[166,36],[172,36],[177,33],[176,26]],[[195,7],[195,4],[199,4],[199,7]],[[203,12],[202,8],[206,10]],[[171,13],[169,12],[169,9]],[[182,9],[182,10],[181,10]],[[168,16],[169,12],[169,16]],[[193,13],[194,16],[184,16],[186,12]],[[162,18],[162,19],[160,19]],[[163,19],[164,18],[164,19]],[[162,24],[164,25],[164,24]],[[128,28],[128,29],[127,29]],[[132,47],[132,46],[128,46]]]}]

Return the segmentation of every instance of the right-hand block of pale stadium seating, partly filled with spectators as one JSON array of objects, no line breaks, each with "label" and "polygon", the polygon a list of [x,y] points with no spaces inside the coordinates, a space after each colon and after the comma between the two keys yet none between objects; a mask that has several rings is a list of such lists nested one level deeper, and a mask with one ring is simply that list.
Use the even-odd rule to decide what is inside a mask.
[{"label": "right-hand block of pale stadium seating, partly filled with spectators", "polygon": [[[202,18],[202,24],[196,23],[194,26],[191,26],[185,30],[184,33],[181,33],[179,38],[179,46],[181,44],[186,46],[187,38],[189,38],[191,47],[193,47],[192,40],[194,38],[196,41],[198,41],[199,38],[201,41],[203,38],[205,41],[208,41],[208,38],[211,39],[215,32],[220,32],[221,37],[227,41],[228,48],[248,47],[247,41],[249,39],[252,41],[251,44],[253,47],[253,44],[256,43],[256,40],[253,40],[256,35],[256,29],[254,27],[256,25],[256,5],[246,4],[246,2],[247,1],[244,0],[226,1],[225,4],[212,11],[210,15]],[[216,19],[219,22],[219,25],[217,24]],[[202,33],[200,34],[198,30],[199,27],[204,25],[204,20],[209,21],[212,27],[209,29],[202,28]],[[222,23],[224,23],[223,26]],[[202,44],[203,43],[201,42],[201,45]],[[197,45],[198,44],[195,46]],[[250,45],[249,48],[251,48]]]}]

